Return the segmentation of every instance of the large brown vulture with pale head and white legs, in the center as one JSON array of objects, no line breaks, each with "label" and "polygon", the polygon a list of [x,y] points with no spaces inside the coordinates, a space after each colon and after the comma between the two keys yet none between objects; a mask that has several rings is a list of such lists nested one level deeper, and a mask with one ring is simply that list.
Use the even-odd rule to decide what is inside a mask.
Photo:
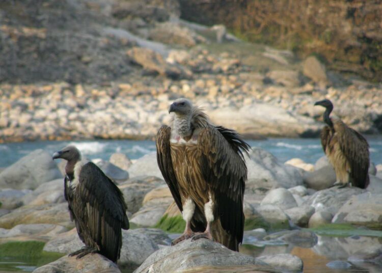
[{"label": "large brown vulture with pale head and white legs, in the center", "polygon": [[172,127],[156,135],[159,169],[186,222],[172,244],[207,238],[238,251],[244,230],[243,195],[250,146],[231,129],[212,125],[184,98],[170,105]]}]

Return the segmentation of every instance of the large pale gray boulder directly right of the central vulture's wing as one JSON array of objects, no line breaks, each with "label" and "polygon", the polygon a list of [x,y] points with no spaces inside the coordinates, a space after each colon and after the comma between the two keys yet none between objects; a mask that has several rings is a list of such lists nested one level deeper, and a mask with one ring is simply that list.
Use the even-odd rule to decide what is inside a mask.
[{"label": "large pale gray boulder directly right of the central vulture's wing", "polygon": [[254,147],[250,157],[245,155],[248,168],[246,190],[256,188],[290,188],[302,185],[303,179],[298,169],[284,165],[271,153]]}]

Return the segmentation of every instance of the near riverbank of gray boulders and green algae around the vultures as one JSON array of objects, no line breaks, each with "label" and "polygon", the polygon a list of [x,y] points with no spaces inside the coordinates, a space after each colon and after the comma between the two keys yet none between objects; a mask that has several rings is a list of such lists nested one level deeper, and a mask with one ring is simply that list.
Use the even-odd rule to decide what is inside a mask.
[{"label": "near riverbank of gray boulders and green algae around the vultures", "polygon": [[[298,257],[304,256],[301,248],[311,251],[310,255],[325,257],[331,257],[331,250],[341,249],[336,251],[335,258],[325,258],[329,259],[329,268],[344,265],[363,268],[365,261],[370,266],[380,266],[382,166],[371,165],[367,189],[340,189],[330,187],[336,179],[325,157],[315,165],[297,159],[283,164],[269,152],[253,147],[246,161],[249,175],[244,194],[245,232],[239,254],[204,239],[169,247],[171,239],[177,236],[173,233],[184,229],[184,221],[162,180],[155,154],[133,163],[124,154],[114,154],[110,161],[97,164],[118,182],[128,205],[132,229],[123,231],[118,267],[99,255],[90,260],[65,256],[35,271],[53,272],[53,268],[60,272],[71,272],[73,268],[80,272],[106,269],[131,272],[135,268],[136,272],[146,272],[147,268],[168,271],[174,260],[181,259],[178,269],[187,272],[231,269],[298,272],[303,269]],[[49,154],[36,150],[0,173],[0,253],[15,241],[37,241],[41,244],[38,255],[49,255],[50,260],[44,260],[48,263],[83,245],[69,219],[62,168],[62,163],[56,165]],[[328,241],[320,236],[328,234],[344,238]],[[362,238],[362,242],[357,238]],[[327,244],[331,246],[324,247]],[[262,249],[266,245],[278,245],[283,250],[274,255]],[[291,248],[296,248],[292,254]],[[209,256],[209,252],[214,255]]]}]

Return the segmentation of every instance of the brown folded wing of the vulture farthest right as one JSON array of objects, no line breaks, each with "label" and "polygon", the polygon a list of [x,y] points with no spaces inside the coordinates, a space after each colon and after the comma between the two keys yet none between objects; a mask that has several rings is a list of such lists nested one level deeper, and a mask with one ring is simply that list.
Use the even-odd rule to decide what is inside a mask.
[{"label": "brown folded wing of the vulture farthest right", "polygon": [[342,121],[334,122],[341,151],[350,163],[353,186],[366,188],[369,184],[369,144],[362,135]]}]

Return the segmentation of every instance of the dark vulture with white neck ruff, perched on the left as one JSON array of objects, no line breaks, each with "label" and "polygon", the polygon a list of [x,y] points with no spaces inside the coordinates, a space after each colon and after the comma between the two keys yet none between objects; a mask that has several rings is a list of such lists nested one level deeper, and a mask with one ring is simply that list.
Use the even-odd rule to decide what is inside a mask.
[{"label": "dark vulture with white neck ruff, perched on the left", "polygon": [[120,257],[122,229],[129,228],[126,203],[121,190],[93,162],[81,160],[79,150],[67,146],[53,159],[67,160],[64,195],[70,219],[85,247],[69,256],[77,259],[99,253],[113,262]]}]

